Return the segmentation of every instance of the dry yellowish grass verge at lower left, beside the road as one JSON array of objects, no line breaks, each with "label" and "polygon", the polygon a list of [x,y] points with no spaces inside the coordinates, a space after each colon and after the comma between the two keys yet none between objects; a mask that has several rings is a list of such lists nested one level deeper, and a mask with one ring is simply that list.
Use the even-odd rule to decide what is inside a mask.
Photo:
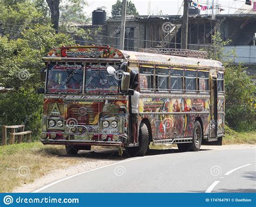
[{"label": "dry yellowish grass verge at lower left, beside the road", "polygon": [[63,146],[44,146],[40,142],[0,147],[0,192],[33,182],[53,169],[65,168],[78,161],[65,155]]}]

